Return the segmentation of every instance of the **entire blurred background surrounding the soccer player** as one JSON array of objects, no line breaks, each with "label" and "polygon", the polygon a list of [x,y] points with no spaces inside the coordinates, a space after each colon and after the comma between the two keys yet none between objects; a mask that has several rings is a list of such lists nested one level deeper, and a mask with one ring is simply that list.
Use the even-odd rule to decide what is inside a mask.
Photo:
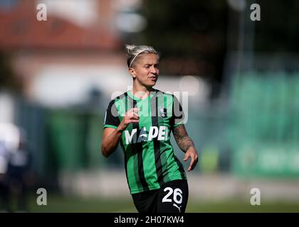
[{"label": "entire blurred background surrounding the soccer player", "polygon": [[100,154],[107,104],[132,86],[127,43],[160,52],[157,89],[189,92],[187,212],[299,212],[298,15],[295,0],[1,0],[0,210],[137,212],[122,150]]}]

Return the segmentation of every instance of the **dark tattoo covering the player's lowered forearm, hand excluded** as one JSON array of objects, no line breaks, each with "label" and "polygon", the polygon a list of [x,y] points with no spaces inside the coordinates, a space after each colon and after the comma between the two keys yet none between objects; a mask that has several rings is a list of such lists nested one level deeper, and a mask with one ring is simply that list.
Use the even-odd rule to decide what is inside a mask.
[{"label": "dark tattoo covering the player's lowered forearm, hand excluded", "polygon": [[174,128],[174,138],[181,150],[186,152],[189,148],[195,147],[193,140],[189,137],[184,125]]}]

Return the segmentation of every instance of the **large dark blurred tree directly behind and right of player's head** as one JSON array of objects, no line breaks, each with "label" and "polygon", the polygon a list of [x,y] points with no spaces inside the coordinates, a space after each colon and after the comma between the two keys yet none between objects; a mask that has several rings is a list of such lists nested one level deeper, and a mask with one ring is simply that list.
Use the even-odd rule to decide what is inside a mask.
[{"label": "large dark blurred tree directly behind and right of player's head", "polygon": [[226,1],[147,0],[141,13],[147,18],[144,43],[162,54],[163,74],[193,74],[219,94],[226,53]]}]

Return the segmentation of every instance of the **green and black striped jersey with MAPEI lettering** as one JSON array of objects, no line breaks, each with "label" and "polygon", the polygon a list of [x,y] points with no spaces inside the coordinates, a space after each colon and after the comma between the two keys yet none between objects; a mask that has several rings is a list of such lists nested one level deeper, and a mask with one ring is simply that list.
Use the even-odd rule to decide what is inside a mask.
[{"label": "green and black striped jersey with MAPEI lettering", "polygon": [[131,194],[159,189],[174,179],[187,179],[170,143],[173,128],[184,120],[177,98],[157,89],[145,99],[125,92],[110,101],[104,128],[117,128],[133,107],[140,109],[139,122],[130,123],[120,140]]}]

